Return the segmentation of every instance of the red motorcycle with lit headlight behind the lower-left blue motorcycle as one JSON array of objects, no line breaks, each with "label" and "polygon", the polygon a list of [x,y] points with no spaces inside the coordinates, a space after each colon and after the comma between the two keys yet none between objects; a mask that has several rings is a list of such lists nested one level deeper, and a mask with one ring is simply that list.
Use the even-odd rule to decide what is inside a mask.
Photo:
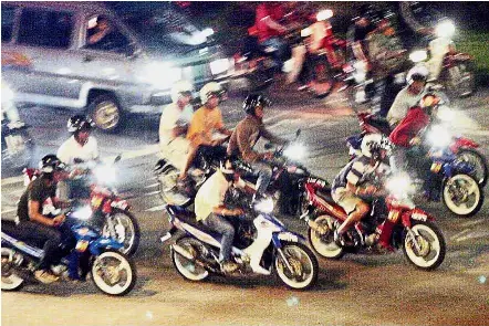
[{"label": "red motorcycle with lit headlight behind the lower-left blue motorcycle", "polygon": [[[121,156],[114,159],[114,164]],[[121,252],[133,255],[139,246],[141,229],[136,217],[131,212],[128,202],[117,196],[117,191],[110,187],[116,178],[112,165],[77,165],[82,171],[93,179],[90,186],[90,222],[100,228],[104,236],[119,241],[123,246]],[[40,175],[37,169],[24,169],[24,183],[29,183]],[[90,178],[93,177],[93,178]]]}]

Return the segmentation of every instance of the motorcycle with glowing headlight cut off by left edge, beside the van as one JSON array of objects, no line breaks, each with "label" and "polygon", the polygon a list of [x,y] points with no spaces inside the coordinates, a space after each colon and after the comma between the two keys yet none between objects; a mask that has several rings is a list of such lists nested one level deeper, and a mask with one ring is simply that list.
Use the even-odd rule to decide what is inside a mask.
[{"label": "motorcycle with glowing headlight cut off by left edge, beside the van", "polygon": [[2,171],[4,169],[20,170],[30,165],[34,154],[34,140],[29,133],[29,126],[22,123],[18,114],[15,120],[8,111],[17,111],[12,102],[13,93],[2,85]]}]

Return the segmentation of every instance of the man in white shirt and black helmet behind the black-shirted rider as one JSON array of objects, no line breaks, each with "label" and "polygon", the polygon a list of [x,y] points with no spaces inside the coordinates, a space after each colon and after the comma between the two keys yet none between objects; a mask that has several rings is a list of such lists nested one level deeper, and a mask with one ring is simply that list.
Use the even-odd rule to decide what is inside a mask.
[{"label": "man in white shirt and black helmet behind the black-shirted rider", "polygon": [[90,134],[94,127],[91,118],[83,115],[72,116],[67,120],[67,132],[72,136],[58,149],[58,157],[65,165],[98,159],[97,141]]}]

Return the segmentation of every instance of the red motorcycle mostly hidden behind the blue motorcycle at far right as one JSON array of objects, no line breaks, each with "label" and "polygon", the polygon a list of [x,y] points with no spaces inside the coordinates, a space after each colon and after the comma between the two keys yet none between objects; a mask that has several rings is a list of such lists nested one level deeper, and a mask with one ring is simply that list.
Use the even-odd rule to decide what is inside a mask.
[{"label": "red motorcycle mostly hidden behind the blue motorcycle at far right", "polygon": [[[444,116],[441,117],[441,119],[449,120],[450,118],[446,117],[449,115],[449,111],[446,111],[443,114]],[[386,119],[365,112],[358,113],[357,117],[362,133],[360,135],[351,136],[346,139],[346,146],[348,147],[351,159],[360,154],[360,146],[365,135],[391,134],[391,126]],[[485,187],[488,180],[489,171],[486,157],[478,150],[480,145],[472,139],[462,136],[450,135],[448,133],[448,126],[444,123],[437,124],[437,128],[435,129],[439,134],[430,136],[430,138],[433,139],[433,148],[436,150],[439,150],[440,148],[448,148],[449,151],[452,153],[458,160],[472,165],[476,170],[474,176],[475,180],[480,185],[480,187]]]}]

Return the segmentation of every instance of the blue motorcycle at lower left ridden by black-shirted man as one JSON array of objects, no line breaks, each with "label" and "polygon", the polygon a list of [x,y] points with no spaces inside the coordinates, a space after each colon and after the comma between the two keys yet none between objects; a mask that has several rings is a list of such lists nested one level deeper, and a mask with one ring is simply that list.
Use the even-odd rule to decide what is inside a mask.
[{"label": "blue motorcycle at lower left ridden by black-shirted man", "polygon": [[[89,218],[90,213],[80,210],[66,214],[65,221],[73,221],[71,230],[76,239],[73,251],[89,262],[86,267],[79,266],[80,272],[82,275],[91,273],[93,283],[104,294],[122,296],[129,293],[137,280],[134,262],[119,251],[123,248],[121,242],[84,223]],[[44,252],[23,242],[11,222],[2,222],[1,244],[1,290],[18,291],[32,278]],[[66,278],[69,266],[70,257],[66,255],[51,270],[53,274]]]}]

